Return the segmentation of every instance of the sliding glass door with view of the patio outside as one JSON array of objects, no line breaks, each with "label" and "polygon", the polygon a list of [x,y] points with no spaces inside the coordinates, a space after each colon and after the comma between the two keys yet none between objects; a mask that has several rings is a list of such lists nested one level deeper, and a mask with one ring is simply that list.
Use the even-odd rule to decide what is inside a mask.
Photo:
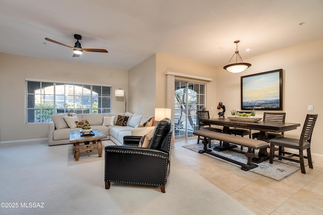
[{"label": "sliding glass door with view of the patio outside", "polygon": [[197,110],[205,109],[205,84],[175,80],[175,138],[193,136]]}]

